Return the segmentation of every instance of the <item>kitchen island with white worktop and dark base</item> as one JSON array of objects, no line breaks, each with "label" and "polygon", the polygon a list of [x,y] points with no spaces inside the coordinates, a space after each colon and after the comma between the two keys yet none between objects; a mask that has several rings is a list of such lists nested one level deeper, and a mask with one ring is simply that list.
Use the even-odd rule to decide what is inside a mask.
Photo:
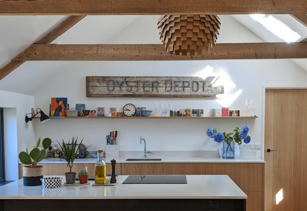
[{"label": "kitchen island with white worktop and dark base", "polygon": [[0,187],[0,210],[246,210],[247,195],[227,175],[187,175],[186,184],[123,184],[127,177],[115,186],[55,189],[14,181]]}]

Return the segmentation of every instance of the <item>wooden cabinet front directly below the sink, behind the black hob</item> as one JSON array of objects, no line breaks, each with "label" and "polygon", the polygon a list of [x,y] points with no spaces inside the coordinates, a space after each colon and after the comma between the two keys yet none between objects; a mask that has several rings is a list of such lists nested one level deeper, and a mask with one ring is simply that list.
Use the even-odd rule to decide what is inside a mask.
[{"label": "wooden cabinet front directly below the sink, behind the black hob", "polygon": [[205,174],[205,163],[122,163],[122,175]]}]

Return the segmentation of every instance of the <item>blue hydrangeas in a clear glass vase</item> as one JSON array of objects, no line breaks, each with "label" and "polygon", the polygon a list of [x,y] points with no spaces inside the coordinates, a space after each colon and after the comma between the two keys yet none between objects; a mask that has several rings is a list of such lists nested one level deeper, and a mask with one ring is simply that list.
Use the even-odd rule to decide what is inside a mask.
[{"label": "blue hydrangeas in a clear glass vase", "polygon": [[207,129],[206,134],[208,137],[213,138],[217,143],[223,142],[223,158],[234,158],[234,142],[241,144],[243,140],[244,143],[249,143],[251,141],[251,137],[247,135],[248,132],[249,126],[244,125],[241,130],[236,127],[233,130],[233,133],[217,132],[216,129],[210,127]]}]

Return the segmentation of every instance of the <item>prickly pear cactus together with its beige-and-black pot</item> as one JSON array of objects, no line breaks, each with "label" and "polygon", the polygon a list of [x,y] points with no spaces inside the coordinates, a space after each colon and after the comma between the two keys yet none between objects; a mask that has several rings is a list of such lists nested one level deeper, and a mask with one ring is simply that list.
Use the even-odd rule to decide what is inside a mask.
[{"label": "prickly pear cactus together with its beige-and-black pot", "polygon": [[23,166],[24,185],[35,186],[41,185],[41,178],[43,176],[43,166],[37,165],[39,161],[46,157],[46,150],[51,146],[51,139],[44,138],[42,140],[42,150],[39,149],[40,136],[38,136],[35,147],[28,153],[22,151],[18,154],[18,158]]}]

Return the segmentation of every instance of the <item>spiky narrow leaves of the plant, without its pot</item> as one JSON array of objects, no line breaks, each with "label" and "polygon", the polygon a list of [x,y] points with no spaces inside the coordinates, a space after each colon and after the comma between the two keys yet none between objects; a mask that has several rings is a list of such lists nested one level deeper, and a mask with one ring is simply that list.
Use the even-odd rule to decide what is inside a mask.
[{"label": "spiky narrow leaves of the plant, without its pot", "polygon": [[69,173],[72,173],[73,163],[78,155],[82,141],[83,138],[80,141],[80,143],[78,143],[78,137],[75,138],[73,136],[71,141],[69,139],[67,142],[64,139],[62,139],[62,141],[57,141],[57,143],[54,144],[57,147],[57,149],[61,152],[62,158],[67,161],[67,167],[69,167]]}]

